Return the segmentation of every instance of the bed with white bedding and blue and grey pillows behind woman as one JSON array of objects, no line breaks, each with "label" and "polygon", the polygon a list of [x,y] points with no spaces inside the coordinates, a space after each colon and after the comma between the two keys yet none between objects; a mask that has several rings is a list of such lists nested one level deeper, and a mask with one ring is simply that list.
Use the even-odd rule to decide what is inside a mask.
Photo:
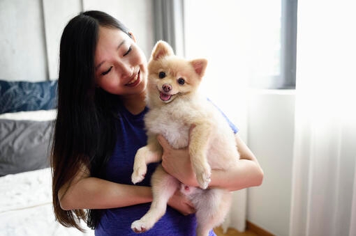
[{"label": "bed with white bedding and blue and grey pillows behind woman", "polygon": [[52,207],[49,143],[57,81],[0,80],[0,235],[94,235],[61,226]]}]

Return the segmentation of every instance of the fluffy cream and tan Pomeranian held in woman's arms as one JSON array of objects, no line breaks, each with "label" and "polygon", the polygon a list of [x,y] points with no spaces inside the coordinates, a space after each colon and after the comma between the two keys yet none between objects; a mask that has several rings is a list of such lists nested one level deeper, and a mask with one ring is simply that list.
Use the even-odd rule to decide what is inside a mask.
[{"label": "fluffy cream and tan Pomeranian held in woman's arms", "polygon": [[188,146],[200,188],[184,186],[159,165],[151,178],[151,207],[140,220],[132,223],[135,233],[143,233],[154,226],[165,214],[168,200],[177,189],[188,196],[196,209],[199,236],[209,235],[212,228],[223,223],[228,213],[230,191],[207,187],[212,169],[226,170],[235,165],[239,152],[235,134],[221,111],[198,93],[206,68],[207,60],[179,58],[167,42],[158,41],[152,50],[148,63],[149,111],[144,117],[148,139],[147,145],[135,155],[131,180],[134,184],[141,182],[147,164],[161,161],[162,148],[156,136],[162,134],[172,148]]}]

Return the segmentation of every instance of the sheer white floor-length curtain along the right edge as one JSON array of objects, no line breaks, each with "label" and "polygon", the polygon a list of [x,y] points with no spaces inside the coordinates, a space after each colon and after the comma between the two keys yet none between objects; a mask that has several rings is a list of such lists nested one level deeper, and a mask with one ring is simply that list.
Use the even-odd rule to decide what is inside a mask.
[{"label": "sheer white floor-length curtain along the right edge", "polygon": [[354,1],[298,1],[290,235],[356,235]]}]

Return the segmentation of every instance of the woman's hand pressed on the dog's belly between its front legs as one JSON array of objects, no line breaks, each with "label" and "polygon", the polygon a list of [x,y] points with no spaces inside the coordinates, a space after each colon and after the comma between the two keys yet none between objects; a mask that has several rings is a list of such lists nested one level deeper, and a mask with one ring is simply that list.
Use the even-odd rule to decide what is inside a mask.
[{"label": "woman's hand pressed on the dog's belly between its front legs", "polygon": [[188,147],[174,149],[161,134],[157,136],[157,140],[163,148],[162,166],[165,171],[179,180],[179,182],[188,186],[198,187],[198,182],[191,166]]}]

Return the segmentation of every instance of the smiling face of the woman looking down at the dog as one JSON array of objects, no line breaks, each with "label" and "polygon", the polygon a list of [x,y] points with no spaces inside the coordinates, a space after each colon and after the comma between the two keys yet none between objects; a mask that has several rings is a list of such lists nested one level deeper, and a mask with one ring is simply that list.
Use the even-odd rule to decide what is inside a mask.
[{"label": "smiling face of the woman looking down at the dog", "polygon": [[94,63],[96,85],[108,93],[135,95],[146,88],[146,57],[135,38],[119,29],[99,27]]}]

